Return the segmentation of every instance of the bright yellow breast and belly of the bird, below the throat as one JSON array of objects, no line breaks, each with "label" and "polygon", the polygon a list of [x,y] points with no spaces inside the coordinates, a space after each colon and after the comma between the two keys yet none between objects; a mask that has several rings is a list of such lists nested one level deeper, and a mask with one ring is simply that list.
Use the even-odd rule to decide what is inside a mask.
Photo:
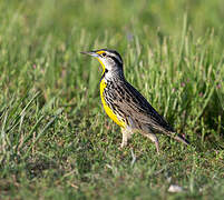
[{"label": "bright yellow breast and belly of the bird, below the throat", "polygon": [[113,110],[107,106],[105,99],[104,99],[104,90],[106,88],[107,83],[105,82],[105,80],[103,79],[100,82],[100,97],[101,97],[101,102],[104,106],[104,109],[106,111],[106,113],[120,127],[125,128],[126,123],[123,120],[119,120],[117,118],[117,116],[113,112]]}]

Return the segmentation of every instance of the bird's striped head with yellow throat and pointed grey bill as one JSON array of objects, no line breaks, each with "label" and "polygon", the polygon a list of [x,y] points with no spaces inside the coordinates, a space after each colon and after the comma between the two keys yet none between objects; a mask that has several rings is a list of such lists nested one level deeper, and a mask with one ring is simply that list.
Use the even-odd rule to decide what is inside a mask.
[{"label": "bird's striped head with yellow throat and pointed grey bill", "polygon": [[123,59],[117,51],[99,49],[96,51],[86,51],[81,53],[97,58],[103,67],[103,73],[118,73],[123,76]]}]

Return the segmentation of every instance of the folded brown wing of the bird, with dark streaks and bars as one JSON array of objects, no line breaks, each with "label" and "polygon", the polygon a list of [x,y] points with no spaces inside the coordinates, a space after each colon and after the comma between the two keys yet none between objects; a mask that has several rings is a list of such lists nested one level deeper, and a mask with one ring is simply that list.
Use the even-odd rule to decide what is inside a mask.
[{"label": "folded brown wing of the bird, with dark streaks and bars", "polygon": [[115,107],[124,112],[133,123],[147,126],[150,130],[159,132],[174,132],[173,128],[158,114],[148,101],[127,81],[116,84]]}]

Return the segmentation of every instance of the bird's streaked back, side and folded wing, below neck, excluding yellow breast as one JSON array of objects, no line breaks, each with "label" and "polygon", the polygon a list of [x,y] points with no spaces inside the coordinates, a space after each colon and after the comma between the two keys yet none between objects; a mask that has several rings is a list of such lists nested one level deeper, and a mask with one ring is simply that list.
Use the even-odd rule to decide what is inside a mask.
[{"label": "bird's streaked back, side and folded wing, below neck, excluding yellow breast", "polygon": [[129,127],[152,132],[174,132],[166,120],[125,79],[108,81],[104,96],[111,110]]}]

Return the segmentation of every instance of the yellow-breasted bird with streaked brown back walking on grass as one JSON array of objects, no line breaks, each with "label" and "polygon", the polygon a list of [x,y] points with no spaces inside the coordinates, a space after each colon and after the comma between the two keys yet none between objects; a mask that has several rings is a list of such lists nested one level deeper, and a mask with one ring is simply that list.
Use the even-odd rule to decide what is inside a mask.
[{"label": "yellow-breasted bird with streaked brown back walking on grass", "polygon": [[101,103],[108,117],[121,128],[120,149],[127,146],[128,140],[135,132],[149,138],[155,143],[157,153],[160,151],[157,133],[166,134],[189,144],[182,134],[176,133],[146,98],[126,80],[123,59],[116,50],[99,49],[81,53],[97,58],[103,68],[99,83]]}]

